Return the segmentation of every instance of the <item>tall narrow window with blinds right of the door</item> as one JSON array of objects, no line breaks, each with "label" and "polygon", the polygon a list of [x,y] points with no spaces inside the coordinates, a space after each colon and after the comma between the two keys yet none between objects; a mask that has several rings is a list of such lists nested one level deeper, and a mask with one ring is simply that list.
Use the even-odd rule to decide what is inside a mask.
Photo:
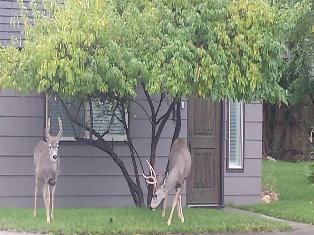
[{"label": "tall narrow window with blinds right of the door", "polygon": [[244,170],[244,103],[228,102],[227,170]]}]

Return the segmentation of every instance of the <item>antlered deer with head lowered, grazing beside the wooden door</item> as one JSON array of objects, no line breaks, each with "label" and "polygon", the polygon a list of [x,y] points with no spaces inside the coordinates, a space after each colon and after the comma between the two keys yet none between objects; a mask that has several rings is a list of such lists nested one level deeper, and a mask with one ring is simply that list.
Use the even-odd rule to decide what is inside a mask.
[{"label": "antlered deer with head lowered, grazing beside the wooden door", "polygon": [[[165,207],[167,204],[168,193],[172,190],[176,190],[176,196],[172,203],[172,208],[170,216],[168,218],[167,225],[171,224],[173,211],[177,205],[178,217],[181,219],[181,222],[184,222],[183,212],[182,212],[182,201],[181,201],[181,191],[183,189],[184,181],[187,179],[191,171],[191,154],[187,148],[187,141],[183,138],[177,138],[170,149],[169,154],[169,171],[165,175],[162,175],[160,172],[159,177],[156,177],[156,173],[153,167],[149,164],[149,161],[146,160],[149,165],[150,175],[143,177],[146,179],[148,184],[154,185],[153,198],[150,203],[151,210],[154,210],[160,202],[164,200],[164,210],[162,216],[165,216]],[[149,181],[149,179],[153,181]]]}]

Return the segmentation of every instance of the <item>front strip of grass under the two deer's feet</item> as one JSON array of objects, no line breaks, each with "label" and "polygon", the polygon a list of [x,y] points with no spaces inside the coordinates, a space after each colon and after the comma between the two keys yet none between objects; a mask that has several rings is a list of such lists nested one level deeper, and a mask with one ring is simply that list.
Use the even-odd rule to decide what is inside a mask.
[{"label": "front strip of grass under the two deer's feet", "polygon": [[[0,230],[43,232],[53,234],[166,234],[201,232],[287,231],[286,224],[243,214],[213,209],[184,208],[185,222],[176,211],[167,227],[161,210],[154,212],[136,208],[56,209],[55,220],[46,223],[44,209],[33,218],[31,209],[0,208]],[[110,224],[109,219],[113,222]]]}]

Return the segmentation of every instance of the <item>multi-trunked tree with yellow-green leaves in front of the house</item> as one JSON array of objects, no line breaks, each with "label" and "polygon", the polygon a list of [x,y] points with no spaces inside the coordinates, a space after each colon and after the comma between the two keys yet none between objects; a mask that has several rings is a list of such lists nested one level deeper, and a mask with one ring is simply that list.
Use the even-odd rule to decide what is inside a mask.
[{"label": "multi-trunked tree with yellow-green leaves in front of the house", "polygon": [[[150,114],[145,112],[152,127],[152,166],[160,134],[183,94],[213,101],[287,101],[287,91],[279,84],[283,63],[280,39],[282,25],[292,23],[279,16],[290,8],[284,11],[263,0],[67,0],[64,4],[46,0],[33,4],[32,25],[22,0],[19,3],[25,41],[22,50],[14,43],[1,48],[0,88],[22,94],[32,89],[52,92],[66,112],[68,101],[89,108],[89,122],[67,112],[74,132],[79,126],[90,133],[89,137],[75,138],[112,157],[137,206],[144,206],[143,191],[124,110],[136,102],[138,85],[150,107]],[[154,94],[161,94],[157,107],[151,98]],[[168,109],[158,117],[167,97]],[[95,130],[95,102],[111,121],[123,123],[135,182],[103,138],[110,125],[102,133]],[[180,108],[177,115],[174,138],[180,129]],[[149,187],[148,204],[151,196]]]}]

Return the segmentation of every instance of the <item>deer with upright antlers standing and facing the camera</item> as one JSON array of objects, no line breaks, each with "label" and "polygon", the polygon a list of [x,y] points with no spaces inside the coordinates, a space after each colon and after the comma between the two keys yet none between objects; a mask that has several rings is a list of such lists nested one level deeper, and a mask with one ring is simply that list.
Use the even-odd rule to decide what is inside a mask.
[{"label": "deer with upright antlers standing and facing the camera", "polygon": [[57,179],[60,173],[60,159],[58,155],[59,141],[62,136],[62,121],[58,117],[59,133],[56,137],[50,136],[50,118],[48,119],[47,128],[45,128],[45,137],[47,142],[41,140],[34,150],[35,163],[35,206],[34,217],[36,216],[38,180],[41,180],[44,185],[42,195],[44,197],[47,222],[50,222],[50,186],[52,186],[51,194],[51,219],[53,219],[53,204],[55,201],[55,191]]}]

